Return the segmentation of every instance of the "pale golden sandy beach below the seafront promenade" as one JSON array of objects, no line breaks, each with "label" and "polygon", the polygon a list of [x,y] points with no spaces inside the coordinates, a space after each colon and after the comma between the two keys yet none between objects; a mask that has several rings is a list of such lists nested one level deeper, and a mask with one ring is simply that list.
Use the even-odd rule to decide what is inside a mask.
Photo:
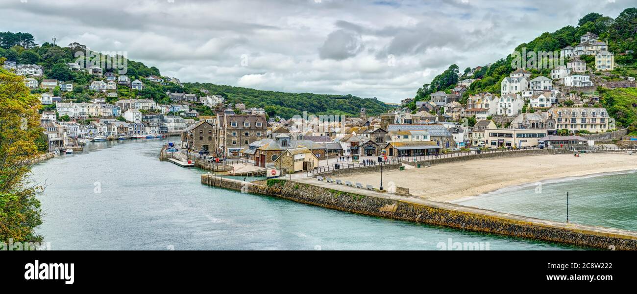
[{"label": "pale golden sandy beach below the seafront promenade", "polygon": [[[637,169],[637,155],[626,153],[480,159],[433,165],[423,169],[383,172],[383,188],[387,188],[393,181],[396,186],[409,188],[412,195],[450,202],[508,186],[634,169]],[[378,187],[380,172],[344,176],[340,179]]]}]

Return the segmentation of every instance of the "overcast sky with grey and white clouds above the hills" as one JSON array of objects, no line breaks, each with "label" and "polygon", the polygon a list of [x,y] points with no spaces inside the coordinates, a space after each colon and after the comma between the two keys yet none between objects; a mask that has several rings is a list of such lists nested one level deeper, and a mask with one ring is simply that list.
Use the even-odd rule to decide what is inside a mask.
[{"label": "overcast sky with grey and white clouds above the hills", "polygon": [[[576,5],[574,5],[576,3]],[[182,82],[400,102],[632,0],[0,0],[0,31],[126,52]]]}]

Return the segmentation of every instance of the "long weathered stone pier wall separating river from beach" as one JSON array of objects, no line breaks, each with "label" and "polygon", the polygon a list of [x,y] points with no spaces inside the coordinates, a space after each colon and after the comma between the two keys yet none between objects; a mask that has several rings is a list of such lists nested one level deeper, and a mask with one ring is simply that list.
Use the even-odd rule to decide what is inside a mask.
[{"label": "long weathered stone pier wall separating river from beach", "polygon": [[[222,179],[209,174],[201,176],[201,183],[242,193],[268,195],[329,209],[395,220],[590,248],[637,250],[637,232],[527,218],[415,197],[399,197],[366,190],[352,193],[283,179],[270,179],[264,183],[265,185],[258,185],[235,179]],[[334,186],[334,188],[341,187]]]}]

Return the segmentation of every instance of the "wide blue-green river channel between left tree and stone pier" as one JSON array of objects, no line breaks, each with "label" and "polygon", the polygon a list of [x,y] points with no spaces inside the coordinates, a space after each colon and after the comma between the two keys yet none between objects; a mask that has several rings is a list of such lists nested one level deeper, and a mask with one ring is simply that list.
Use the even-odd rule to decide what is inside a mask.
[{"label": "wide blue-green river channel between left tree and stone pier", "polygon": [[161,140],[89,143],[38,164],[52,249],[440,249],[483,242],[491,250],[575,249],[344,213],[211,188],[203,171],[158,158]]}]

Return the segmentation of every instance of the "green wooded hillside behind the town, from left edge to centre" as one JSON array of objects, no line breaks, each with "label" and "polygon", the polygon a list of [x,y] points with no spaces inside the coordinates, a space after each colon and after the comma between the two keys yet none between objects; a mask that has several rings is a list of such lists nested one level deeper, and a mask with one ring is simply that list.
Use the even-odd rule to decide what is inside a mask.
[{"label": "green wooded hillside behind the town, from left edge to centre", "polygon": [[[61,47],[51,43],[36,45],[34,37],[29,33],[0,32],[0,57],[5,57],[8,61],[15,61],[18,64],[38,64],[44,69],[44,78],[55,79],[73,83],[73,92],[56,91],[55,95],[61,95],[63,99],[74,102],[87,102],[95,97],[103,97],[99,91],[89,90],[92,80],[96,80],[90,74],[71,71],[66,62],[75,62],[75,52],[83,51],[86,46],[79,43],[72,43],[69,46]],[[113,72],[105,69],[104,73]],[[153,99],[155,102],[168,104],[169,99],[166,92],[183,92],[189,94],[200,94],[200,89],[210,91],[210,95],[222,95],[229,103],[243,103],[247,108],[264,108],[268,115],[291,118],[294,115],[302,115],[303,111],[310,114],[320,115],[348,115],[358,116],[361,108],[366,108],[369,115],[385,113],[392,106],[389,106],[377,99],[362,99],[352,95],[318,95],[310,93],[284,93],[251,88],[232,87],[225,85],[214,85],[211,83],[149,83],[146,78],[151,74],[161,76],[157,67],[149,67],[141,62],[128,60],[127,76],[131,80],[139,79],[145,83],[143,90],[132,90],[129,87],[119,85],[117,89],[118,97],[107,98],[108,102],[117,99]],[[99,80],[99,79],[97,79]],[[34,90],[41,92],[42,90]],[[194,109],[201,115],[211,115],[213,109],[196,104]]]}]

